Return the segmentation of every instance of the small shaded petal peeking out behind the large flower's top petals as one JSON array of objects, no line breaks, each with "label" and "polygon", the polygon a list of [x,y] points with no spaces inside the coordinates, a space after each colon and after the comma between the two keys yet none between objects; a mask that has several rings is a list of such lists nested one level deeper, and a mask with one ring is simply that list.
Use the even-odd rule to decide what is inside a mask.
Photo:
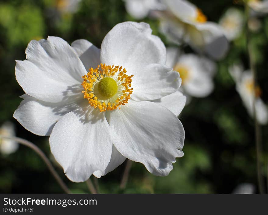
[{"label": "small shaded petal peeking out behind the large flower's top petals", "polygon": [[72,42],[72,48],[76,51],[80,60],[83,62],[85,69],[88,70],[91,67],[95,69],[101,64],[101,49],[94,46],[87,40],[81,39]]}]

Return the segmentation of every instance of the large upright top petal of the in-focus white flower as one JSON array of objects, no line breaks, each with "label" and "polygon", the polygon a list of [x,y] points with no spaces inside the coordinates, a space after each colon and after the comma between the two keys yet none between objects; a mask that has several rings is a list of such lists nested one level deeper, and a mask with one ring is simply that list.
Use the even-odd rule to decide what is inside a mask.
[{"label": "large upright top petal of the in-focus white flower", "polygon": [[120,65],[128,75],[138,75],[146,65],[166,61],[166,48],[159,37],[151,34],[146,23],[117,24],[101,44],[101,62]]}]

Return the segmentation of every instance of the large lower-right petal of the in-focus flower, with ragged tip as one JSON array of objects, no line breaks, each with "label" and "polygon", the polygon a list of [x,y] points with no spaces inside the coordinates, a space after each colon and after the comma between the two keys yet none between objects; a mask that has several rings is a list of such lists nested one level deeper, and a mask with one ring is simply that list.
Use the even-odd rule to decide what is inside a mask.
[{"label": "large lower-right petal of the in-focus flower, with ragged tip", "polygon": [[107,112],[106,118],[117,150],[153,174],[168,175],[175,157],[183,156],[182,123],[159,104],[129,101],[121,110]]}]

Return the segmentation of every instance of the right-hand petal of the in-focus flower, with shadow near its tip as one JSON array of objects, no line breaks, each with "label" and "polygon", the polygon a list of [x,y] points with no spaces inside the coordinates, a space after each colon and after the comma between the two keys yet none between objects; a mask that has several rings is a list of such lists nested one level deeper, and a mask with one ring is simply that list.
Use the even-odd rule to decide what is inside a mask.
[{"label": "right-hand petal of the in-focus flower, with shadow near its tip", "polygon": [[159,99],[176,92],[181,83],[178,72],[164,65],[150,64],[132,77],[131,98],[137,101]]}]

